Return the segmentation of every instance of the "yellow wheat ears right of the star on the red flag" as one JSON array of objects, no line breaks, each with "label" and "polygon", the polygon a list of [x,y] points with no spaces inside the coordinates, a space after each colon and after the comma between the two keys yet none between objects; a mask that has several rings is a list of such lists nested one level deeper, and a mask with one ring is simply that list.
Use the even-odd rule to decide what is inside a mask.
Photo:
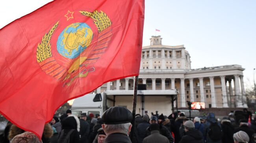
[{"label": "yellow wheat ears right of the star on the red flag", "polygon": [[98,32],[100,33],[104,29],[108,28],[112,23],[106,13],[103,11],[93,11],[93,13],[89,11],[79,11],[81,14],[93,18],[93,22],[98,28]]}]

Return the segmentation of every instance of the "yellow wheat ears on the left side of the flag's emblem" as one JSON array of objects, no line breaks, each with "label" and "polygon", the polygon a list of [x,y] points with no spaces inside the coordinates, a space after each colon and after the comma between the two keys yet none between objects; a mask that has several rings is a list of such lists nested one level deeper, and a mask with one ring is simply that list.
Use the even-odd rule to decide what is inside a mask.
[{"label": "yellow wheat ears on the left side of the flag's emblem", "polygon": [[48,33],[45,33],[45,36],[43,36],[41,43],[38,43],[37,45],[37,62],[38,63],[43,62],[47,58],[52,57],[50,40],[54,30],[58,27],[58,24],[59,22],[57,22],[50,29]]}]

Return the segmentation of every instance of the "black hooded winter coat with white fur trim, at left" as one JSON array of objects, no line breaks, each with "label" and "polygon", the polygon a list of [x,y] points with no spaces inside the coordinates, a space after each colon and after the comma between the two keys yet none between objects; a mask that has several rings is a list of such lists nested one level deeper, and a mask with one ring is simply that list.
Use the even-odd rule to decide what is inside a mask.
[{"label": "black hooded winter coat with white fur trim, at left", "polygon": [[74,131],[70,134],[70,143],[79,143],[80,135],[78,132],[77,125],[79,125],[79,128],[80,128],[80,121],[79,119],[77,120],[74,116],[67,117],[61,123],[61,127],[62,127],[61,132],[64,131],[65,134],[68,134],[70,130],[74,129]]}]

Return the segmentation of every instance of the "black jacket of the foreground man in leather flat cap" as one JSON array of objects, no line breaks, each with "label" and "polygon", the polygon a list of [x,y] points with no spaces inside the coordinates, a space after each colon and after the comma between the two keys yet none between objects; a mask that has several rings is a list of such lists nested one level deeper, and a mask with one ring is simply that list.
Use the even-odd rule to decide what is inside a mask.
[{"label": "black jacket of the foreground man in leather flat cap", "polygon": [[105,138],[104,143],[132,143],[132,141],[123,133],[113,133]]}]

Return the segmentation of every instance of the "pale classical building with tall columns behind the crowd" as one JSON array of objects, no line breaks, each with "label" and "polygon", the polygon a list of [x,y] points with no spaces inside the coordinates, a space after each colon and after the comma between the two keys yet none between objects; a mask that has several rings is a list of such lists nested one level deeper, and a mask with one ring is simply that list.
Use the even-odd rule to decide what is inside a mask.
[{"label": "pale classical building with tall columns behind the crowd", "polygon": [[[205,102],[206,108],[247,107],[243,84],[245,69],[241,65],[191,69],[190,55],[184,45],[167,46],[162,45],[161,41],[160,36],[152,36],[150,45],[142,47],[139,84],[146,84],[147,90],[159,93],[177,89],[179,108],[187,107],[186,101]],[[108,99],[114,102],[113,105],[126,106],[131,105],[132,96],[126,96],[124,91],[133,88],[134,78],[130,77],[108,82],[98,88],[97,92],[115,90],[119,99],[113,96]],[[141,109],[150,112],[157,109],[169,114],[170,99],[171,97],[164,95],[139,98],[138,112]]]}]

